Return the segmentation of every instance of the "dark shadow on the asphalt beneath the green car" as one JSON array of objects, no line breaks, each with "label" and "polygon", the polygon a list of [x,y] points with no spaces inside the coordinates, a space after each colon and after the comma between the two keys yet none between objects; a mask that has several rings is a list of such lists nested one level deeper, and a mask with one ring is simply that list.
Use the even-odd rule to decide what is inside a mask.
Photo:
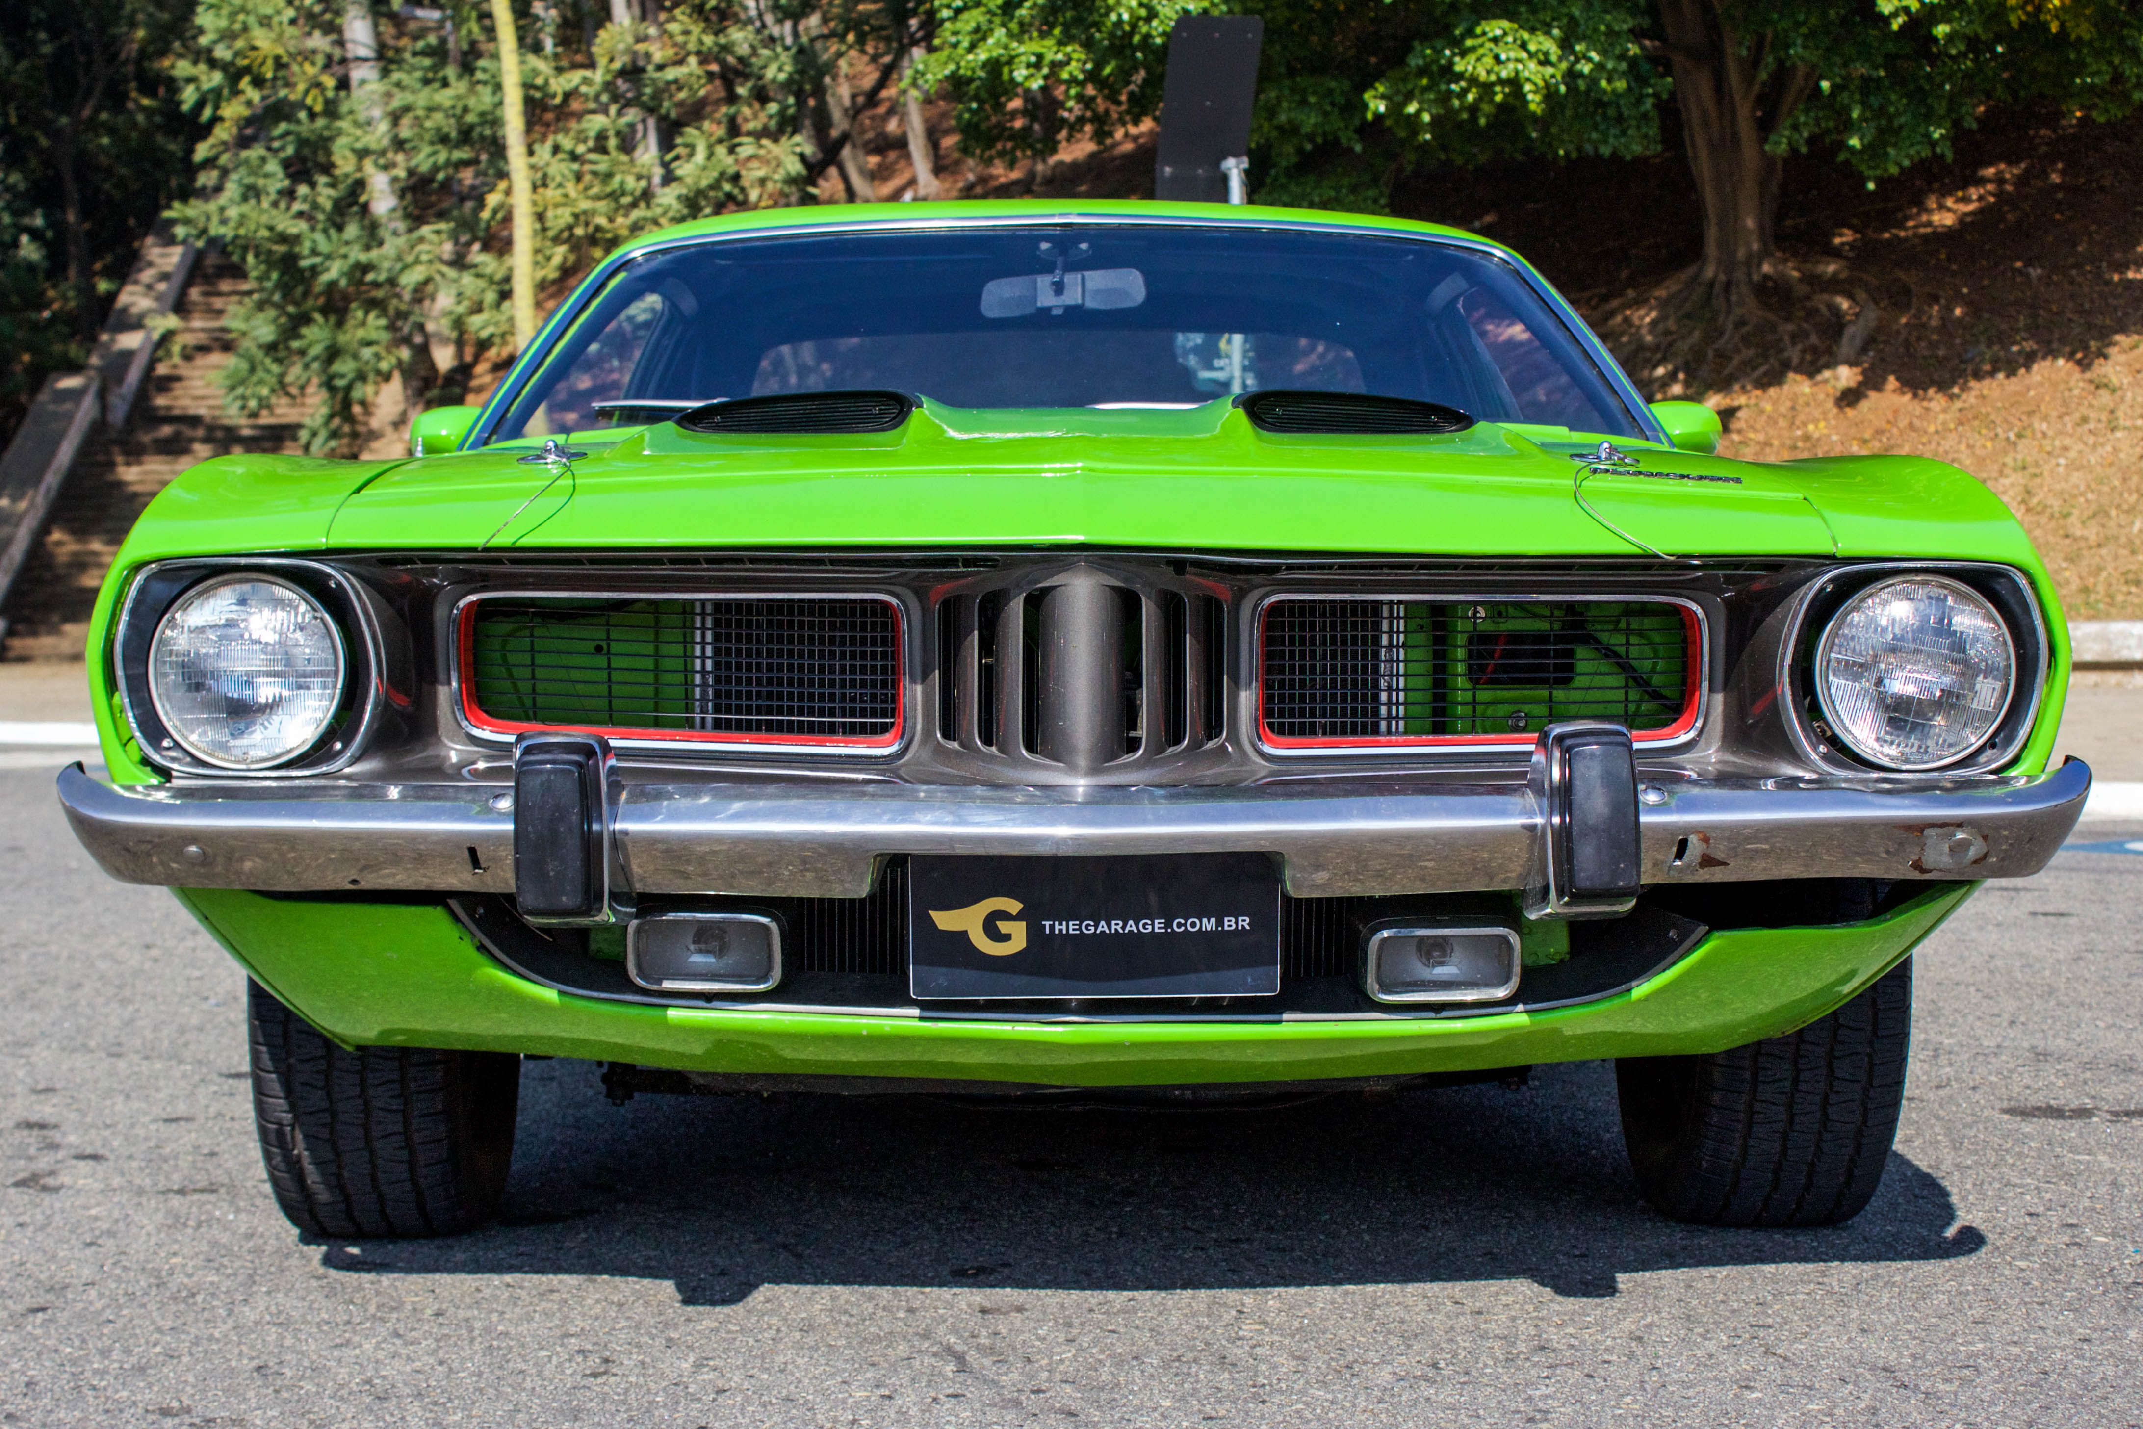
[{"label": "dark shadow on the asphalt beneath the green car", "polygon": [[[1912,1108],[1907,1105],[1907,1116]],[[321,1243],[381,1275],[669,1279],[686,1305],[759,1285],[1228,1290],[1530,1279],[1618,1294],[1693,1266],[1972,1255],[1903,1155],[1854,1221],[1678,1225],[1637,1200],[1614,1071],[1522,1090],[1333,1095],[1277,1110],[975,1108],[915,1097],[636,1097],[529,1063],[497,1225]]]}]

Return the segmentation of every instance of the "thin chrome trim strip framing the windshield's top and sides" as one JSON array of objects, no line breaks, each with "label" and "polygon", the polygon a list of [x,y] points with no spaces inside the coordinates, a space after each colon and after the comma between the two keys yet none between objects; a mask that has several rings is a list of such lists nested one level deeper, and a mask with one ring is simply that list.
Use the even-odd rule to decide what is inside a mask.
[{"label": "thin chrome trim strip framing the windshield's top and sides", "polygon": [[[808,212],[808,210],[795,210],[795,212]],[[1504,249],[1502,244],[1472,236],[1459,238],[1455,234],[1419,234],[1412,229],[1387,229],[1361,223],[1318,223],[1314,219],[1267,219],[1256,214],[1243,214],[1243,216],[1215,214],[1207,219],[1207,216],[1183,216],[1183,214],[1119,214],[1108,210],[1065,208],[1056,212],[1035,212],[1035,214],[992,214],[986,219],[960,219],[951,214],[941,214],[921,219],[838,219],[829,223],[808,223],[808,221],[771,223],[763,227],[735,229],[729,234],[694,234],[690,238],[671,238],[669,242],[645,244],[628,253],[619,253],[617,257],[609,259],[591,274],[587,274],[581,287],[576,287],[566,298],[566,302],[553,309],[551,317],[546,317],[542,326],[538,326],[536,336],[529,341],[527,347],[521,349],[521,356],[514,360],[514,364],[506,368],[506,377],[501,377],[499,386],[493,388],[491,401],[484,403],[482,411],[476,413],[476,422],[469,424],[471,439],[465,439],[463,446],[456,450],[478,450],[491,443],[491,431],[506,418],[506,411],[512,407],[512,403],[519,401],[523,383],[527,383],[538,371],[542,371],[542,364],[551,360],[551,349],[557,345],[557,339],[561,339],[566,332],[572,330],[574,324],[581,321],[581,315],[587,313],[587,309],[596,302],[596,298],[611,283],[611,279],[617,276],[621,268],[628,268],[641,261],[643,257],[651,257],[656,253],[671,253],[677,249],[694,249],[701,244],[750,242],[750,240],[782,238],[782,236],[795,238],[795,236],[827,236],[827,234],[887,234],[887,231],[921,234],[932,229],[958,231],[958,229],[1037,227],[1037,225],[1046,227],[1046,225],[1078,225],[1078,223],[1095,227],[1284,229],[1301,234],[1337,234],[1348,238],[1397,238],[1408,242],[1444,244],[1449,249],[1466,249],[1470,253],[1479,253],[1517,272],[1519,281],[1526,287],[1530,287],[1532,294],[1543,302],[1543,306],[1547,306],[1547,311],[1562,321],[1562,326],[1577,341],[1584,354],[1592,358],[1592,364],[1599,368],[1601,379],[1614,390],[1616,396],[1622,398],[1624,407],[1629,407],[1627,416],[1637,424],[1637,431],[1644,433],[1642,439],[1663,448],[1674,448],[1674,441],[1667,439],[1667,431],[1659,424],[1659,418],[1652,416],[1650,403],[1644,401],[1644,396],[1637,392],[1637,386],[1629,379],[1629,373],[1622,371],[1622,364],[1616,362],[1614,354],[1607,351],[1607,345],[1599,339],[1597,332],[1592,332],[1590,324],[1586,324],[1586,319],[1577,315],[1577,309],[1573,309],[1569,300],[1564,300],[1562,294],[1558,294],[1547,283],[1547,279],[1543,279],[1539,270],[1532,268],[1532,264],[1528,264],[1515,251]],[[1601,435],[1614,435],[1614,433],[1601,433]]]}]

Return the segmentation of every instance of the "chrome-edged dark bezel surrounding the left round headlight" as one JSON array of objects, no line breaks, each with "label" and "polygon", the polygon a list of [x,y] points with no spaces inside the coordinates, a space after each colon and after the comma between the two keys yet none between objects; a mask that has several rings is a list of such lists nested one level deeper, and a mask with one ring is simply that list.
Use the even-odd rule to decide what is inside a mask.
[{"label": "chrome-edged dark bezel surrounding the left round headlight", "polygon": [[[231,578],[261,578],[311,600],[336,632],[343,656],[343,694],[317,739],[298,754],[257,767],[231,767],[191,750],[163,720],[150,688],[150,649],[171,608],[195,591]],[[141,746],[144,763],[165,773],[221,780],[274,780],[345,769],[384,716],[388,641],[381,600],[347,572],[326,561],[294,557],[231,557],[156,561],[135,572],[111,636],[111,673]],[[407,688],[407,679],[399,681]]]}]

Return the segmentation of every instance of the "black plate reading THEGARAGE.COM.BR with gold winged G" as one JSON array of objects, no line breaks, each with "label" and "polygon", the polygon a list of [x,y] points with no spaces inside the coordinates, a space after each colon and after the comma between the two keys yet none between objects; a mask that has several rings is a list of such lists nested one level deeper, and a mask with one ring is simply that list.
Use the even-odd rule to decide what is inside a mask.
[{"label": "black plate reading THEGARAGE.COM.BR with gold winged G", "polygon": [[1262,853],[909,859],[915,998],[1279,992],[1279,872]]}]

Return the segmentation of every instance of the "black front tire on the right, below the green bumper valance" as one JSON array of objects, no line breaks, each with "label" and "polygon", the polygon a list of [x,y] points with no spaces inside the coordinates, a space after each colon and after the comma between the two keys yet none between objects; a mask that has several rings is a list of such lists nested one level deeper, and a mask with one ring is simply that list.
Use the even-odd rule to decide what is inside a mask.
[{"label": "black front tire on the right, below the green bumper valance", "polygon": [[1654,1208],[1699,1225],[1837,1225],[1882,1185],[1912,1046],[1912,958],[1798,1033],[1616,1063]]}]

